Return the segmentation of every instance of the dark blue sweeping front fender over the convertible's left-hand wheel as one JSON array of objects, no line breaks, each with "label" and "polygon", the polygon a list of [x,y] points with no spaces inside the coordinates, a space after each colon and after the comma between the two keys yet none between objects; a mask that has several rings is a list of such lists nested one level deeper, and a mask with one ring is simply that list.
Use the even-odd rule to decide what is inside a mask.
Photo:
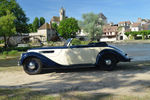
[{"label": "dark blue sweeping front fender over the convertible's left-hand wheel", "polygon": [[59,64],[57,64],[56,62],[52,61],[51,59],[45,57],[44,55],[40,54],[40,53],[36,53],[36,52],[27,52],[27,53],[23,53],[20,59],[20,65],[23,65],[24,61],[28,58],[31,57],[35,57],[40,59],[40,61],[42,62],[42,64],[47,67],[47,66],[60,66]]}]

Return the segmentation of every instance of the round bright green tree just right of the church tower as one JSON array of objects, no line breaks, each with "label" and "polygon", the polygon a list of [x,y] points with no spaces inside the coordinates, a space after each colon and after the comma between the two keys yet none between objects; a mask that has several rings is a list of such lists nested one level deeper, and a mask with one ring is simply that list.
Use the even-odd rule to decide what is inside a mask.
[{"label": "round bright green tree just right of the church tower", "polygon": [[78,21],[75,18],[67,18],[60,22],[58,32],[65,39],[73,38],[79,31]]}]

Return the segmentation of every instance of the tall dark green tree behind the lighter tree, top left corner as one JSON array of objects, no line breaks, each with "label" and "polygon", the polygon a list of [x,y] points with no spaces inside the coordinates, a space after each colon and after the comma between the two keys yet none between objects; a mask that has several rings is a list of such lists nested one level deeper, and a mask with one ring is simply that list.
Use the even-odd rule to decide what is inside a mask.
[{"label": "tall dark green tree behind the lighter tree, top left corner", "polygon": [[16,2],[16,0],[1,0],[0,1],[0,17],[5,16],[7,11],[10,11],[14,14],[16,19],[14,20],[15,28],[17,33],[26,33],[28,32],[29,19],[26,17],[26,14]]}]

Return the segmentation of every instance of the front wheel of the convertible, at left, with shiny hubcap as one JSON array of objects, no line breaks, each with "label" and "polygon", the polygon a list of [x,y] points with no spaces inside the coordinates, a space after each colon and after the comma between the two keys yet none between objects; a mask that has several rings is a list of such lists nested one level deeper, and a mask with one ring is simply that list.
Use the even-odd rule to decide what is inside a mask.
[{"label": "front wheel of the convertible, at left, with shiny hubcap", "polygon": [[39,74],[42,71],[42,63],[38,58],[28,58],[23,64],[23,69],[29,75]]}]

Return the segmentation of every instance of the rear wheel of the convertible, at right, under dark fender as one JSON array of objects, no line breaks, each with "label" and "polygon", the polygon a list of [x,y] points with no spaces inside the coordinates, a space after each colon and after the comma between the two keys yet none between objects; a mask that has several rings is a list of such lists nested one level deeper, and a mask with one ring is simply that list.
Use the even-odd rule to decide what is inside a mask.
[{"label": "rear wheel of the convertible, at right, under dark fender", "polygon": [[103,70],[111,71],[117,64],[117,59],[113,55],[104,55],[99,61],[98,67]]}]

